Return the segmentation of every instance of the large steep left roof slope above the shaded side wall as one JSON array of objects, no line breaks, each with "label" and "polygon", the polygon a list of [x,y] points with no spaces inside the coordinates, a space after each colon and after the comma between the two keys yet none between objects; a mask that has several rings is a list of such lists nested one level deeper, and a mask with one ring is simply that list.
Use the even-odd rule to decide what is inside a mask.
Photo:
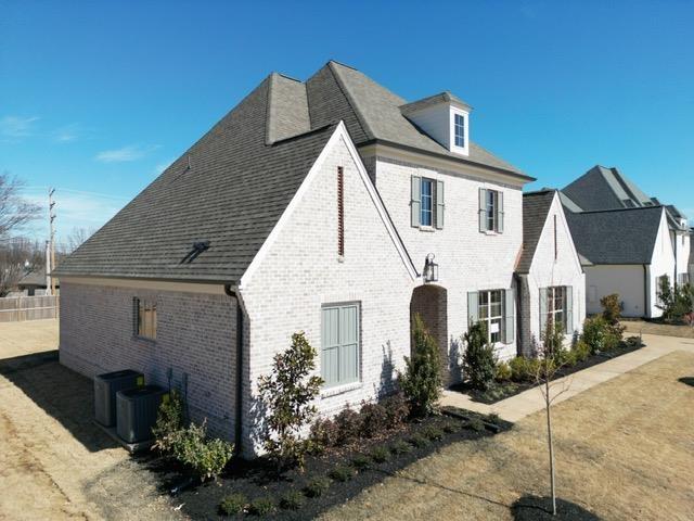
[{"label": "large steep left roof slope above the shaded side wall", "polygon": [[[56,274],[237,281],[335,129],[266,144],[275,79],[262,81],[64,259]],[[303,124],[300,118],[273,122],[270,135],[292,134]],[[193,243],[202,241],[209,241],[209,247],[183,262]]]}]

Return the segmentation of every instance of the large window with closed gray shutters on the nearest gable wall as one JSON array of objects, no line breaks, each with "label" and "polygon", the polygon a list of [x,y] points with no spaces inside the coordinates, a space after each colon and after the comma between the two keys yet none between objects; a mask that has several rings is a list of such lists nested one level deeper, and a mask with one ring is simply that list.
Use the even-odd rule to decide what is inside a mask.
[{"label": "large window with closed gray shutters on the nearest gable wall", "polygon": [[359,304],[323,306],[321,377],[326,387],[359,381]]}]

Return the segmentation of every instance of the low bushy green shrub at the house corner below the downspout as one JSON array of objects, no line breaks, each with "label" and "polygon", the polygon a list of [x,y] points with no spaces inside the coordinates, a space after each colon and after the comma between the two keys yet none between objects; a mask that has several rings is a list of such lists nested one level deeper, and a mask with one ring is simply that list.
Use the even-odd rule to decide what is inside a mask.
[{"label": "low bushy green shrub at the house corner below the downspout", "polygon": [[207,437],[206,423],[191,423],[174,436],[174,457],[188,467],[201,481],[217,479],[233,456],[234,446],[218,439]]}]

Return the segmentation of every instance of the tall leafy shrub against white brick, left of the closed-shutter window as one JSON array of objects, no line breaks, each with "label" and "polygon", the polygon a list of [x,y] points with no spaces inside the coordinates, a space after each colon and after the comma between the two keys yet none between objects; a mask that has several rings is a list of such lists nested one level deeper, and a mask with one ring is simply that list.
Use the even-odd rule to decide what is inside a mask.
[{"label": "tall leafy shrub against white brick, left of the closed-shutter window", "polygon": [[292,346],[274,355],[272,372],[260,377],[258,392],[268,410],[265,448],[280,466],[294,463],[304,469],[311,441],[301,435],[317,414],[313,399],[323,380],[316,370],[316,350],[304,333],[292,335]]}]

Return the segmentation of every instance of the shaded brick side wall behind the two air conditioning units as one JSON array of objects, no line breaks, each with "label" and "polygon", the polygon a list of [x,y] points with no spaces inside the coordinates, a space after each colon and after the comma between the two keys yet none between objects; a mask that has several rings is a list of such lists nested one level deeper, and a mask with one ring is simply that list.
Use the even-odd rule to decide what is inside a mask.
[{"label": "shaded brick side wall behind the two air conditioning units", "polygon": [[[136,282],[137,284],[137,282]],[[156,300],[155,342],[133,335],[132,298]],[[61,364],[93,378],[136,369],[146,383],[174,385],[188,373],[191,418],[233,439],[235,301],[227,295],[72,283],[61,280]]]}]

